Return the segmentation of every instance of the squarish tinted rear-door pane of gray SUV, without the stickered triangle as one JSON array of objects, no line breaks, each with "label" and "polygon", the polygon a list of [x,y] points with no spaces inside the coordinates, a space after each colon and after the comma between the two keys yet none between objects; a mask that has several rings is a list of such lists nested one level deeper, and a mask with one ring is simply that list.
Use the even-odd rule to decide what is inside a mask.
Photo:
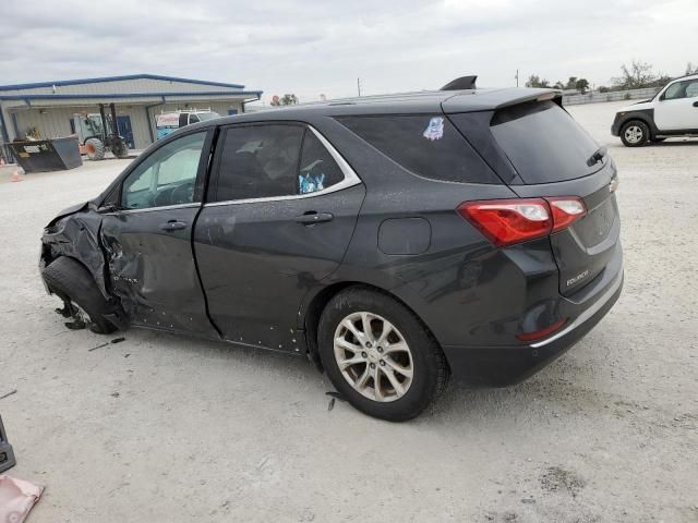
[{"label": "squarish tinted rear-door pane of gray SUV, without the stickered triangle", "polygon": [[217,202],[297,194],[303,127],[246,125],[226,131],[218,167]]}]

